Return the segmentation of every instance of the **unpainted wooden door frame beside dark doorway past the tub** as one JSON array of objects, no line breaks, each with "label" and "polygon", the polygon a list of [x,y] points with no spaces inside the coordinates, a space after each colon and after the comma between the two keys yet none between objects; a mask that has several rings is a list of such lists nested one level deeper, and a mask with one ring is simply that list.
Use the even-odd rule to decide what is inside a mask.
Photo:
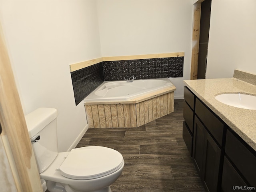
[{"label": "unpainted wooden door frame beside dark doorway past the tub", "polygon": [[198,54],[199,54],[199,39],[200,39],[200,20],[201,20],[201,3],[204,0],[198,0],[194,3],[193,15],[193,31],[192,31],[192,58],[190,79],[197,79],[198,71]]}]

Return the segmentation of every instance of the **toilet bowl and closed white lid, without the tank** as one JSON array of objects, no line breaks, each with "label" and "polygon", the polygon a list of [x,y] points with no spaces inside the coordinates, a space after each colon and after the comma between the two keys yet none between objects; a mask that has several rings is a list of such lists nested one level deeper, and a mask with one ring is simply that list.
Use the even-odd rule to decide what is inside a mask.
[{"label": "toilet bowl and closed white lid, without the tank", "polygon": [[[89,159],[86,158],[88,155],[91,155]],[[46,180],[49,191],[61,184],[66,192],[110,192],[108,186],[121,175],[124,168],[121,158],[119,152],[106,147],[76,148],[71,152],[58,153],[54,162],[40,174],[40,178]],[[70,186],[69,190],[67,185]]]}]

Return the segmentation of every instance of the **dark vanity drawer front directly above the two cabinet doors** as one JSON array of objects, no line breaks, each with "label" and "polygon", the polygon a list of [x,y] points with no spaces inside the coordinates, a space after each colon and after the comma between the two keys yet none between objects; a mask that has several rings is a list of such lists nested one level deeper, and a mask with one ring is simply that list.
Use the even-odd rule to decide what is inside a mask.
[{"label": "dark vanity drawer front directly above the two cabinet doors", "polygon": [[224,124],[198,98],[196,98],[196,115],[203,122],[210,134],[222,146]]}]

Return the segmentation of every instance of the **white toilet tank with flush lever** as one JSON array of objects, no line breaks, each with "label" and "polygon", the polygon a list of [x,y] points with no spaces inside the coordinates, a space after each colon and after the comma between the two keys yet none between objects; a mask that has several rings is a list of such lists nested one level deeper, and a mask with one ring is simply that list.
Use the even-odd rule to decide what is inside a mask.
[{"label": "white toilet tank with flush lever", "polygon": [[25,116],[39,173],[46,170],[58,154],[57,116],[54,108],[38,108]]}]

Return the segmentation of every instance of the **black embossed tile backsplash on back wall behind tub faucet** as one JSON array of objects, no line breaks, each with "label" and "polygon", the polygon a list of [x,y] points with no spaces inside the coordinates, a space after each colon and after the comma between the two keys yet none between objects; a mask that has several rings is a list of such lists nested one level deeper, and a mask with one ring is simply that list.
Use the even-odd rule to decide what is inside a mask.
[{"label": "black embossed tile backsplash on back wall behind tub faucet", "polygon": [[137,79],[183,77],[183,61],[184,57],[105,61],[104,80],[124,80],[133,75]]}]

